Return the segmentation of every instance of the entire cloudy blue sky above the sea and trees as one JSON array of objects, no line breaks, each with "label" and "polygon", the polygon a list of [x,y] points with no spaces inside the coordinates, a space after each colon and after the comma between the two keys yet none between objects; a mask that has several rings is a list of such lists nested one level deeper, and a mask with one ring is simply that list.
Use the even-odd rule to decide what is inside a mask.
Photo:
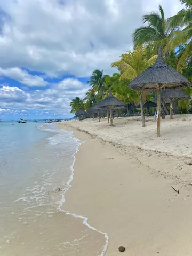
[{"label": "entire cloudy blue sky above the sea and trees", "polygon": [[132,49],[142,15],[179,0],[0,0],[0,119],[70,118],[93,70]]}]

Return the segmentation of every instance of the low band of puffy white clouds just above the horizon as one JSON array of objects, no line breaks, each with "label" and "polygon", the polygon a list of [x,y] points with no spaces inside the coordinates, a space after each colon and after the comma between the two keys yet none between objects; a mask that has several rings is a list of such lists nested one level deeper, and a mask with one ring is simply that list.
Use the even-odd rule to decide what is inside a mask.
[{"label": "low band of puffy white clouds just above the horizon", "polygon": [[[71,85],[71,86],[70,86]],[[70,113],[70,101],[78,96],[84,97],[88,86],[78,79],[67,78],[49,89],[26,92],[17,87],[3,86],[0,88],[0,101],[3,108],[17,109],[22,114],[26,110],[51,110],[55,113]]]}]

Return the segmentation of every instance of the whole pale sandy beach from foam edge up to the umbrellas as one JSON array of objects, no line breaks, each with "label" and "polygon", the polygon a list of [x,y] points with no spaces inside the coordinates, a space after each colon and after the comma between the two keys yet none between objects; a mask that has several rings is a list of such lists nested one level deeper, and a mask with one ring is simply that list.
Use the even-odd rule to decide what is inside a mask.
[{"label": "whole pale sandy beach from foam edge up to the umbrellas", "polygon": [[85,142],[63,210],[107,233],[106,255],[121,255],[119,246],[123,255],[191,255],[192,116],[167,116],[158,139],[153,117],[147,121],[145,128],[138,117],[115,118],[114,127],[106,119],[58,124]]}]

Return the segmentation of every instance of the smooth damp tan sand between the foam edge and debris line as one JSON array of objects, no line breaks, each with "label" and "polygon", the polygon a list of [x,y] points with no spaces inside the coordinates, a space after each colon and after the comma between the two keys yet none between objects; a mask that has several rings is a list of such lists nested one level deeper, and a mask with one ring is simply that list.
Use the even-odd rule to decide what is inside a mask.
[{"label": "smooth damp tan sand between the foam edge and debris line", "polygon": [[[153,168],[156,156],[155,160],[149,156],[145,159],[149,151],[134,149],[136,151],[129,154],[132,147],[107,142],[89,129],[82,131],[78,122],[57,125],[86,141],[76,154],[73,188],[66,194],[65,209],[88,217],[91,226],[108,234],[105,255],[119,255],[119,246],[126,248],[125,255],[147,256],[157,252],[161,255],[190,255],[186,252],[190,251],[187,241],[192,238],[188,213],[192,210],[191,186],[188,180],[181,179],[183,175],[175,177],[175,170],[171,170],[172,173],[156,170]],[[139,156],[135,156],[135,152]],[[162,155],[165,154],[161,153],[160,160]],[[173,167],[178,163],[172,158],[174,156],[167,156],[165,160]],[[175,196],[172,185],[180,190],[178,196]],[[185,253],[181,250],[183,246]]]}]

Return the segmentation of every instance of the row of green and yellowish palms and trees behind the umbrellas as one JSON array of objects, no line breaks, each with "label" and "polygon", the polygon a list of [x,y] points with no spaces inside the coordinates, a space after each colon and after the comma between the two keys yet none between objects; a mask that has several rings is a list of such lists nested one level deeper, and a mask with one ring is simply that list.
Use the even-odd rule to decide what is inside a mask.
[{"label": "row of green and yellowish palms and trees behind the umbrellas", "polygon": [[[127,85],[140,73],[153,63],[157,58],[157,49],[161,45],[166,63],[177,69],[192,82],[192,2],[180,0],[183,9],[173,17],[165,19],[164,10],[159,5],[159,10],[143,15],[143,26],[133,31],[133,51],[127,51],[111,67],[118,69],[112,76],[103,74],[103,70],[95,69],[87,81],[90,89],[85,98],[76,97],[70,102],[71,113],[79,108],[87,110],[95,103],[105,98],[109,90],[122,100],[125,105],[132,103],[142,106],[148,100],[153,100],[153,92],[134,91]],[[190,96],[191,88],[184,89]],[[190,100],[180,100],[180,111],[189,111]],[[143,114],[143,113],[141,113]]]}]

